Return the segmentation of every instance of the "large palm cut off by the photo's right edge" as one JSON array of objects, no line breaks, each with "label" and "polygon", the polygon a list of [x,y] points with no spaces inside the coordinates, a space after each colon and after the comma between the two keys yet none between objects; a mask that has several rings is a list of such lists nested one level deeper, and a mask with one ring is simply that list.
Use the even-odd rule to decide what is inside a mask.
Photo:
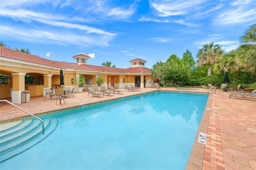
[{"label": "large palm cut off by the photo's right edge", "polygon": [[236,50],[236,59],[247,71],[256,74],[256,24],[240,37],[242,45]]}]

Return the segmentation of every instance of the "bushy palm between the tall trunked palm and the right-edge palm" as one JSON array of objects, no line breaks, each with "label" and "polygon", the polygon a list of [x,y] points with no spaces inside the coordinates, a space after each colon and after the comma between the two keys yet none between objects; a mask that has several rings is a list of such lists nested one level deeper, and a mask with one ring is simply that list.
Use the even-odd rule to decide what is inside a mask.
[{"label": "bushy palm between the tall trunked palm and the right-edge palm", "polygon": [[241,66],[238,65],[236,61],[235,51],[232,50],[230,52],[224,53],[220,59],[214,64],[214,72],[220,74],[226,72],[228,70],[232,72],[239,72],[241,70]]}]

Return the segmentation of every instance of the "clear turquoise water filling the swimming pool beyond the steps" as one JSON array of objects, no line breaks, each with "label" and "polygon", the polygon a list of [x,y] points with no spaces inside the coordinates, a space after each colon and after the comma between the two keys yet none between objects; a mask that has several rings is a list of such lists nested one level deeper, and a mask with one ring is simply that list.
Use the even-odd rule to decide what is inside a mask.
[{"label": "clear turquoise water filling the swimming pool beyond the steps", "polygon": [[157,92],[44,115],[56,129],[0,169],[185,169],[207,99]]}]

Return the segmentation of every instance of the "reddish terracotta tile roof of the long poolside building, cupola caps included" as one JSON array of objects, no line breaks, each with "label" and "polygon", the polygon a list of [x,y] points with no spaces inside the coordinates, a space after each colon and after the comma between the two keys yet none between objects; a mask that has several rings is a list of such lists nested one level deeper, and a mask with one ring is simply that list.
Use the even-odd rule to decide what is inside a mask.
[{"label": "reddish terracotta tile roof of the long poolside building, cupola caps included", "polygon": [[[84,54],[79,54],[84,55]],[[84,55],[87,56],[87,55]],[[78,63],[67,63],[61,61],[52,61],[49,59],[44,59],[38,56],[30,55],[6,47],[0,47],[0,57],[16,59],[19,61],[25,61],[29,63],[36,63],[40,65],[47,65],[51,67],[57,67],[61,69],[74,69],[74,70],[86,70],[86,71],[96,71],[96,72],[108,72],[108,73],[150,73],[150,69],[146,67],[130,67],[128,69],[114,68],[114,67],[104,67],[97,65],[88,65]],[[138,59],[135,59],[138,60]],[[141,60],[144,61],[144,60]]]}]

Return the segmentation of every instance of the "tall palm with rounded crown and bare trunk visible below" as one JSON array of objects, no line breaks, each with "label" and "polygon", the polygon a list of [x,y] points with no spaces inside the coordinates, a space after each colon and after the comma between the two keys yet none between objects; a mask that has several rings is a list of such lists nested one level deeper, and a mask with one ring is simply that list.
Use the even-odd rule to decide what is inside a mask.
[{"label": "tall palm with rounded crown and bare trunk visible below", "polygon": [[214,44],[214,42],[205,44],[201,49],[198,50],[196,55],[199,58],[197,65],[208,65],[208,75],[211,75],[212,65],[216,63],[216,61],[220,58],[220,55],[223,53],[224,51],[219,44]]}]

